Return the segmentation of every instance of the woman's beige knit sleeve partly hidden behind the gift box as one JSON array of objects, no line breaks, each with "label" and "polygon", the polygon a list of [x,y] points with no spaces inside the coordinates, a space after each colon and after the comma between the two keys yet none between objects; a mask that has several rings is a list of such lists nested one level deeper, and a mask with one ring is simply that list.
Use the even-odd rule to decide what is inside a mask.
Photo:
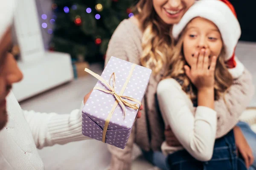
[{"label": "woman's beige knit sleeve partly hidden behind the gift box", "polygon": [[[122,21],[114,31],[108,44],[105,65],[113,57],[136,63],[140,58],[139,49],[141,47],[139,32],[134,29],[134,25],[128,20]],[[137,63],[136,63],[137,64]],[[132,149],[134,143],[134,130],[128,139],[125,149],[109,146],[111,152],[110,170],[130,170],[132,161]]]}]

